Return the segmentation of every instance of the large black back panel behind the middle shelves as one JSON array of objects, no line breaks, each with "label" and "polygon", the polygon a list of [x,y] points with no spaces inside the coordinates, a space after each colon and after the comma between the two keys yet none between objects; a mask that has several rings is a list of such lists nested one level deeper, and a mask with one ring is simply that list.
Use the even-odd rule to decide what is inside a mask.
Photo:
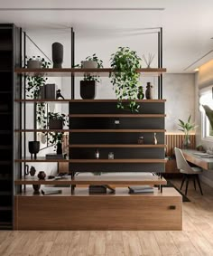
[{"label": "large black back panel behind the middle shelves", "polygon": [[[162,160],[165,157],[164,147],[128,147],[128,144],[137,145],[138,137],[144,137],[144,144],[152,145],[154,130],[165,128],[164,122],[164,101],[139,101],[140,114],[151,115],[147,116],[134,116],[130,111],[116,108],[116,101],[101,100],[87,102],[82,100],[73,101],[69,103],[69,121],[70,128],[82,129],[85,132],[73,132],[69,137],[69,144],[82,145],[82,147],[69,147],[69,158],[79,159],[78,163],[70,163],[69,169],[73,172],[164,172],[164,163],[154,163],[155,160]],[[80,116],[80,114],[84,116]],[[85,116],[89,114],[90,117]],[[93,115],[110,114],[109,117],[94,117]],[[118,114],[122,114],[122,117],[118,117]],[[161,114],[162,117],[152,117],[153,114]],[[75,117],[72,117],[75,115]],[[78,117],[79,115],[79,117]],[[116,116],[114,116],[116,115]],[[126,115],[126,117],[125,117]],[[111,132],[87,132],[86,129],[116,129]],[[120,132],[122,129],[144,129],[152,131],[145,132]],[[157,143],[164,144],[164,132],[156,132]],[[98,148],[99,159],[106,159],[106,162],[88,163],[87,159],[95,159],[94,147],[84,147],[84,145],[103,145],[103,144],[119,144],[123,147],[101,147]],[[113,152],[115,159],[121,159],[121,163],[108,162],[108,153]],[[82,163],[80,159],[84,159]],[[129,159],[129,161],[122,163],[122,159]],[[131,163],[131,160],[141,159],[148,160],[149,163]]]}]

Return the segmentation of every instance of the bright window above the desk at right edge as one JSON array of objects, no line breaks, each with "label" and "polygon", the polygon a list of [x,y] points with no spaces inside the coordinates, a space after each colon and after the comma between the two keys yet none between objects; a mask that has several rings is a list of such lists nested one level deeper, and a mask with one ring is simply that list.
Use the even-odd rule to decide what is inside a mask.
[{"label": "bright window above the desk at right edge", "polygon": [[210,109],[213,109],[213,88],[208,87],[207,89],[200,90],[200,97],[199,97],[199,109],[201,111],[201,132],[202,138],[213,140],[213,128],[211,127],[208,118],[202,105],[208,105]]}]

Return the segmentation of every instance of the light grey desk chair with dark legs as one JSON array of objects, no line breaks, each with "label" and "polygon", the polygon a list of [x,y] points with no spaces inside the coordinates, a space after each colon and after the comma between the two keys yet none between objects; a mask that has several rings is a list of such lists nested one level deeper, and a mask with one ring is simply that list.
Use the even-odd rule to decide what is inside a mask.
[{"label": "light grey desk chair with dark legs", "polygon": [[183,179],[181,182],[181,189],[186,180],[185,195],[187,195],[188,185],[189,185],[189,181],[190,181],[191,177],[193,178],[193,181],[194,181],[195,190],[196,190],[196,180],[197,180],[198,185],[199,185],[199,191],[203,195],[202,188],[201,188],[201,185],[199,182],[199,174],[202,172],[202,169],[199,167],[190,166],[188,164],[188,162],[186,161],[185,157],[182,155],[182,151],[180,148],[174,147],[174,152],[175,152],[175,156],[176,156],[176,162],[177,162],[178,169],[180,169],[180,172],[183,174]]}]

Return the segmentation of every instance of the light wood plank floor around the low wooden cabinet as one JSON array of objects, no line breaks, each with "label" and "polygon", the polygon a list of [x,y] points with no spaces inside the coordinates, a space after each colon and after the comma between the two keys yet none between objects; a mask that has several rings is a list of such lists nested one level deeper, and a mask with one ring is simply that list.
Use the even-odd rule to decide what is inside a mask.
[{"label": "light wood plank floor around the low wooden cabinet", "polygon": [[[176,185],[180,182],[176,181]],[[203,184],[202,187],[203,196],[190,185],[191,202],[183,203],[181,232],[1,231],[0,255],[212,256],[213,188]]]}]

